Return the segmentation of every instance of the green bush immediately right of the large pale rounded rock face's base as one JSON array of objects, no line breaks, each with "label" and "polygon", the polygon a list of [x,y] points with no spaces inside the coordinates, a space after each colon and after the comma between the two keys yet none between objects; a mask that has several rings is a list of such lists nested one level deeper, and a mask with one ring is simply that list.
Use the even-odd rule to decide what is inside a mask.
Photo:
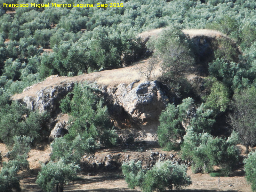
[{"label": "green bush immediately right of the large pale rounded rock face's base", "polygon": [[[159,117],[160,125],[157,129],[158,142],[166,150],[175,149],[177,139],[183,140],[185,125],[193,127],[197,132],[210,132],[212,124],[212,110],[205,109],[204,103],[196,110],[193,108],[194,100],[186,98],[180,105],[168,104]],[[194,112],[191,109],[195,109]],[[192,113],[192,114],[191,114]]]}]

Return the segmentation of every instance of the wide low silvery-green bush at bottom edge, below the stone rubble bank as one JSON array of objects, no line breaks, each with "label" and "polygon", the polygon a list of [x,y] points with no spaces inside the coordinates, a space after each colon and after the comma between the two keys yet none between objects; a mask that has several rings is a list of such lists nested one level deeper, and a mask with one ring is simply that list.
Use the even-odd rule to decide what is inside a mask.
[{"label": "wide low silvery-green bush at bottom edge, below the stone rubble bank", "polygon": [[180,189],[190,185],[185,165],[172,164],[171,161],[157,162],[151,170],[142,170],[141,162],[123,163],[122,171],[130,188],[139,186],[143,192],[165,191],[166,188]]}]

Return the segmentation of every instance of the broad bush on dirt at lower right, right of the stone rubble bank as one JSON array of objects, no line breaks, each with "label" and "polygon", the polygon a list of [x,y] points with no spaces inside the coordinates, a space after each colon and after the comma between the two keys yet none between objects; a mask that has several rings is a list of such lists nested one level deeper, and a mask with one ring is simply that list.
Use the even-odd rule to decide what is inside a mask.
[{"label": "broad bush on dirt at lower right, right of the stone rubble bank", "polygon": [[223,140],[213,138],[209,133],[197,134],[193,129],[188,129],[181,146],[182,158],[193,160],[194,172],[212,172],[213,166],[219,165],[221,174],[228,176],[238,162],[238,141],[236,132],[232,132],[228,140]]}]

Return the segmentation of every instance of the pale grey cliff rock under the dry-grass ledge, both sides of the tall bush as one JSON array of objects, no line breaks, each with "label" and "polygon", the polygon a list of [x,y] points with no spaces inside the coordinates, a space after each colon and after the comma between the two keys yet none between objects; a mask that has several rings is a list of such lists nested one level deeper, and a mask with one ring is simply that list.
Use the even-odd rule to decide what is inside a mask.
[{"label": "pale grey cliff rock under the dry-grass ledge, both sides of the tall bush", "polygon": [[[74,86],[74,82],[67,81],[48,87],[44,87],[43,83],[39,87],[40,90],[36,91],[34,95],[27,94],[19,99],[32,110],[47,111],[51,114],[52,123],[49,124],[49,128],[52,133],[50,139],[62,134],[63,125],[58,122],[57,117],[60,113],[60,100],[71,92]],[[167,86],[158,81],[140,83],[138,80],[129,85],[124,83],[114,87],[98,85],[98,88],[104,95],[105,103],[114,120],[128,119],[129,123],[133,123],[139,128],[151,126],[152,129],[156,130],[159,115],[170,101]],[[25,93],[26,91],[24,90]]]}]

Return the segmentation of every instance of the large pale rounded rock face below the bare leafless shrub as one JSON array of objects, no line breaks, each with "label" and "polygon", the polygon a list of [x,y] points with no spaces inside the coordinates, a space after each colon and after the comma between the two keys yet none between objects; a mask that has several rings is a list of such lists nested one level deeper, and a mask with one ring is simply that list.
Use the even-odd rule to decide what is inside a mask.
[{"label": "large pale rounded rock face below the bare leafless shrub", "polygon": [[161,111],[170,100],[167,86],[158,81],[146,81],[135,86],[136,84],[138,81],[128,86],[119,84],[115,88],[103,87],[108,107],[112,113],[114,111],[114,116],[121,116],[119,119],[127,116],[141,127],[156,124]]}]

